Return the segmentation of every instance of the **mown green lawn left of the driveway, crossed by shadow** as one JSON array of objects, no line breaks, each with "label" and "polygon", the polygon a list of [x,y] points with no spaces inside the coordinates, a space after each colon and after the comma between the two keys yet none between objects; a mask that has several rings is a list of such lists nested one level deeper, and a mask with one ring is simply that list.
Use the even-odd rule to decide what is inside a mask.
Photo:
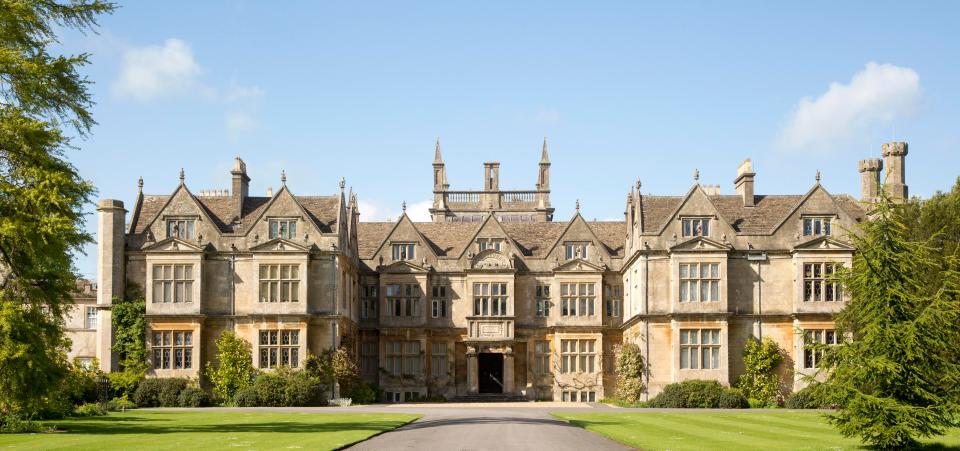
[{"label": "mown green lawn left of the driveway, crossed by shadow", "polygon": [[0,449],[336,449],[393,430],[409,414],[133,410],[52,421],[58,432],[0,435]]}]

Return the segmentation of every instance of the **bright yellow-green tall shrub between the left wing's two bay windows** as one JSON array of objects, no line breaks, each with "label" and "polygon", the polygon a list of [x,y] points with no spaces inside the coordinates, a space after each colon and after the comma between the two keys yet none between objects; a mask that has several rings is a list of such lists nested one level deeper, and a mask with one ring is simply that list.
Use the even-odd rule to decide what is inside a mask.
[{"label": "bright yellow-green tall shrub between the left wing's two bay windows", "polygon": [[205,374],[213,384],[213,392],[223,401],[232,402],[233,395],[249,387],[257,375],[250,343],[233,331],[224,331],[217,338],[217,360],[217,366],[207,362]]}]

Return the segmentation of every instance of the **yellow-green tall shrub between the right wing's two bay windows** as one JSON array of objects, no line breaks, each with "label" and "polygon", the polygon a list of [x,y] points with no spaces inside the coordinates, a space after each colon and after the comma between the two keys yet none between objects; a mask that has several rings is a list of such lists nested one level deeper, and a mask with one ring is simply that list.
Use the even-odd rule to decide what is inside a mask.
[{"label": "yellow-green tall shrub between the right wing's two bay windows", "polygon": [[783,398],[780,391],[780,375],[777,367],[783,363],[783,350],[777,342],[766,337],[763,340],[747,340],[743,350],[743,366],[746,369],[737,383],[744,396],[776,407]]}]

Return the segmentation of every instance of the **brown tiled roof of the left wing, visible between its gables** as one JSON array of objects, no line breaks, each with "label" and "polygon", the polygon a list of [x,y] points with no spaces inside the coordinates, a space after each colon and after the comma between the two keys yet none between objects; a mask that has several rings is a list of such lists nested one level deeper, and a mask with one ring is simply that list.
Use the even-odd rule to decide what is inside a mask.
[{"label": "brown tiled roof of the left wing, visible between its gables", "polygon": [[[336,233],[337,204],[340,200],[338,196],[294,196],[294,198],[307,211],[307,215],[321,232]],[[160,214],[160,210],[163,209],[169,199],[170,196],[168,195],[144,195],[143,204],[140,206],[140,215],[137,217],[137,223],[131,225],[131,232],[143,233],[147,224],[150,224]],[[194,199],[210,216],[221,233],[246,233],[253,225],[253,221],[266,209],[271,198],[247,197],[243,204],[240,227],[236,230],[230,227],[234,219],[230,197],[194,196]]]}]

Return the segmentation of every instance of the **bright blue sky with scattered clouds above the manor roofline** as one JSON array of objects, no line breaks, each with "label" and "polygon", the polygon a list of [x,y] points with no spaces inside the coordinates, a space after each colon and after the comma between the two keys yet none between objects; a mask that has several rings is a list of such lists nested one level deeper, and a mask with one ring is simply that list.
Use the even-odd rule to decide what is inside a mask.
[{"label": "bright blue sky with scattered clouds above the manor roofline", "polygon": [[424,211],[437,137],[452,188],[498,160],[524,189],[546,136],[560,220],[578,198],[621,219],[637,177],[678,194],[699,168],[732,193],[744,158],[760,194],[820,169],[857,195],[857,160],[894,139],[912,194],[960,174],[960,4],[672,3],[125,3],[63,36],[92,53],[99,122],[69,158],[130,207],[137,177],[165,194],[181,167],[194,192],[229,188],[235,155],[257,195],[282,169],[296,194],[343,176],[365,220]]}]

